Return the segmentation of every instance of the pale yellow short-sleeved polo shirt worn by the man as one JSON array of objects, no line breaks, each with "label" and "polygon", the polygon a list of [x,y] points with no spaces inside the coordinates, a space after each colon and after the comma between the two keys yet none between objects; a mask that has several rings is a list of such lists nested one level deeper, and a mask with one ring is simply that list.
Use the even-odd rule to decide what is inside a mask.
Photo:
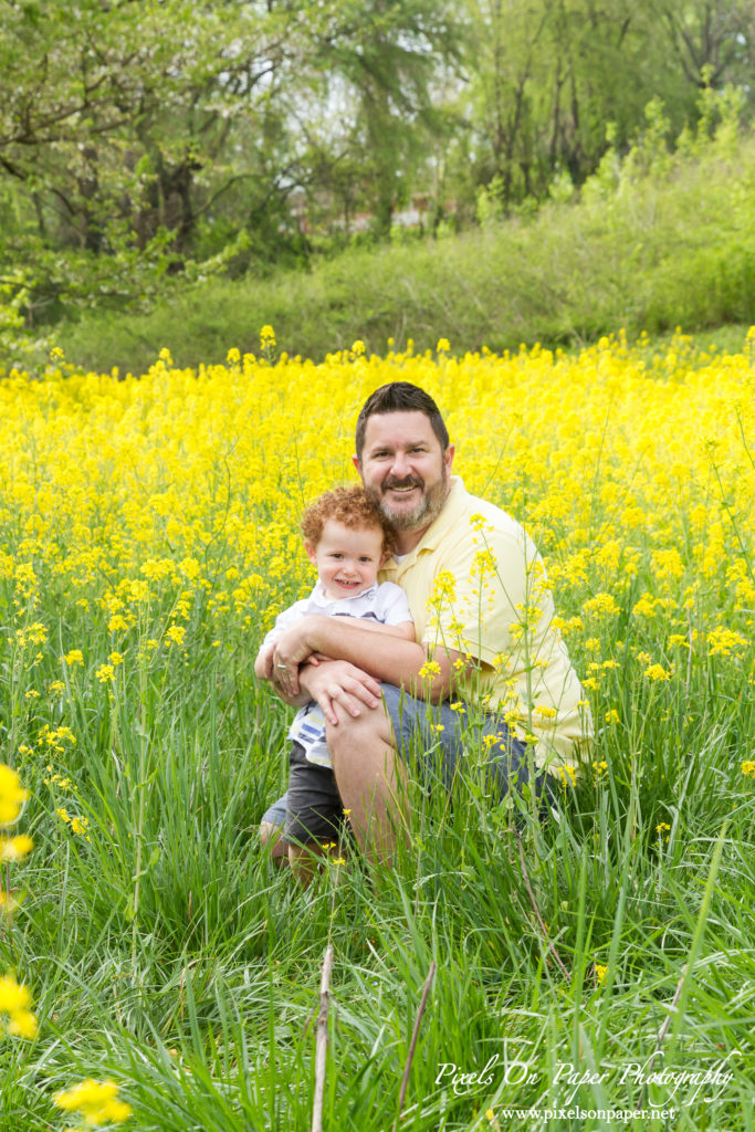
[{"label": "pale yellow short-sleeved polo shirt worn by the man", "polygon": [[552,625],[542,559],[511,515],[454,475],[422,540],[379,576],[406,591],[429,658],[441,645],[480,661],[456,695],[500,712],[520,738],[534,736],[538,767],[578,764],[592,736],[590,709]]}]

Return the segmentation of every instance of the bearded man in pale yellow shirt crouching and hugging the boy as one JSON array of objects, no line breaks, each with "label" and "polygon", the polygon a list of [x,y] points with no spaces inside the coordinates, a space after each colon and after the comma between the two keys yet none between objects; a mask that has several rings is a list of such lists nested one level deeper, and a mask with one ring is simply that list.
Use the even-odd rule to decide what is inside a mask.
[{"label": "bearded man in pale yellow shirt crouching and hugging the boy", "polygon": [[[417,641],[308,617],[278,638],[265,674],[288,703],[321,707],[340,801],[362,850],[384,861],[401,783],[435,761],[423,752],[440,748],[449,784],[477,744],[497,797],[527,783],[542,794],[550,775],[573,775],[592,730],[542,560],[518,523],[452,478],[454,451],[422,389],[397,381],[368,398],[354,465],[396,531],[380,578],[406,591]],[[263,837],[280,821],[278,804]]]}]

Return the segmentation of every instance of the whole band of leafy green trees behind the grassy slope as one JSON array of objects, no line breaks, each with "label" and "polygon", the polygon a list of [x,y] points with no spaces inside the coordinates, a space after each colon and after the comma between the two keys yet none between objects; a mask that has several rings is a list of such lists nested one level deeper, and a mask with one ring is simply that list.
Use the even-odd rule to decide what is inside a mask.
[{"label": "whole band of leafy green trees behind the grassy slope", "polygon": [[642,162],[668,129],[698,154],[752,118],[755,0],[0,2],[11,362],[174,277],[387,242],[410,201],[441,234],[526,217],[607,149]]}]

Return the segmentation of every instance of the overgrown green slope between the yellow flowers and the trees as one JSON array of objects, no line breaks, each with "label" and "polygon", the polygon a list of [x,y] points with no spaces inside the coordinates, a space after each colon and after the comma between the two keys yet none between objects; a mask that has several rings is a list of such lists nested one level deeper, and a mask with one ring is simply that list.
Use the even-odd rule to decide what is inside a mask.
[{"label": "overgrown green slope between the yellow flowers and the trees", "polygon": [[[755,144],[732,149],[731,117],[695,152],[672,154],[658,106],[621,160],[610,148],[576,201],[496,221],[486,194],[479,232],[354,248],[307,273],[216,281],[177,292],[143,317],[61,329],[77,365],[146,369],[168,345],[185,365],[257,349],[275,327],[290,354],[321,359],[357,338],[455,351],[575,344],[625,328],[662,334],[755,320]],[[495,203],[495,197],[492,198]]]}]

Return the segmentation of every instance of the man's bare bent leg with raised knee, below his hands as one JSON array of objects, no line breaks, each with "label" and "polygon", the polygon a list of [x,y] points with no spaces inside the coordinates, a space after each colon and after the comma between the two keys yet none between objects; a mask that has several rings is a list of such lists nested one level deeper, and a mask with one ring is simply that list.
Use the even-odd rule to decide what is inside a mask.
[{"label": "man's bare bent leg with raised knee, below his hands", "polygon": [[[369,860],[393,865],[397,837],[406,840],[406,771],[398,757],[391,719],[381,707],[357,719],[338,714],[327,743],[343,808]],[[400,812],[401,803],[401,812]]]}]

